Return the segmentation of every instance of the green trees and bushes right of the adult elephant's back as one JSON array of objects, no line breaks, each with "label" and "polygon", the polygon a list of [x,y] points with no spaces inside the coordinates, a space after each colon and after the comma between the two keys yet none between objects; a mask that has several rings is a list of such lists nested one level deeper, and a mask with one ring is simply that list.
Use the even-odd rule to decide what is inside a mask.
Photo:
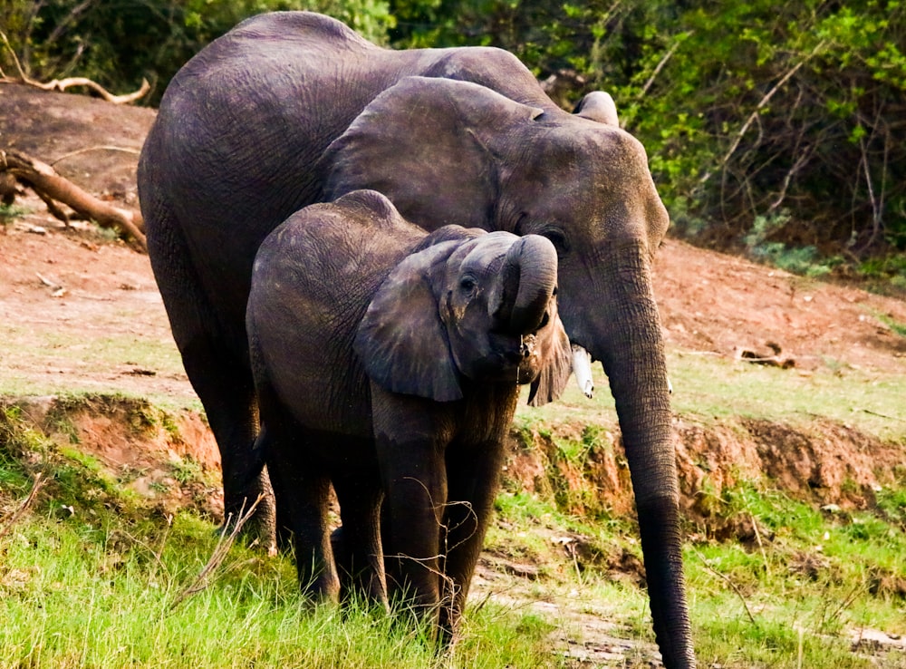
[{"label": "green trees and bushes right of the adult elephant's back", "polygon": [[412,6],[391,5],[398,44],[506,48],[567,105],[610,91],[680,234],[906,248],[900,2],[429,0],[420,21]]}]

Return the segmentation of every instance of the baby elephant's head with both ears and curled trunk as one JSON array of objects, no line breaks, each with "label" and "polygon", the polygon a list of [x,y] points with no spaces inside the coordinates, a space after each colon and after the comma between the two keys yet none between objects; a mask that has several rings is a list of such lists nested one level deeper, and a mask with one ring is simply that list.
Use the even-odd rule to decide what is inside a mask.
[{"label": "baby elephant's head with both ears and curled trunk", "polygon": [[571,351],[556,306],[557,254],[537,235],[447,226],[381,285],[355,351],[393,393],[449,402],[467,383],[532,383],[533,403],[563,393]]}]

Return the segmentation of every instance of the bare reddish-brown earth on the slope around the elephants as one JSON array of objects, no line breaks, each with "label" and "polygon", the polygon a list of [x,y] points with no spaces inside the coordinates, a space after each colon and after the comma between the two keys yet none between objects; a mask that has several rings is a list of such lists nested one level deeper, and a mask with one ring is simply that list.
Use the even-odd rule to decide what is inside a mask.
[{"label": "bare reddish-brown earth on the slope around the elephants", "polygon": [[[153,117],[146,109],[0,85],[0,150],[24,150],[53,162],[92,193],[137,207],[137,150]],[[170,339],[148,257],[98,238],[91,226],[63,226],[33,196],[18,204],[30,212],[0,230],[0,339],[5,342],[0,377],[5,387],[31,398],[26,407],[36,424],[42,424],[53,400],[34,398],[34,389],[53,395],[70,390],[125,393],[187,408],[174,413],[178,431],[128,429],[129,402],[118,406],[99,400],[94,410],[79,409],[71,419],[84,447],[111,470],[141,472],[133,480],[137,490],[149,495],[161,488],[175,490],[161,504],[195,504],[216,517],[217,490],[185,490],[174,484],[168,465],[188,455],[216,471],[217,451]],[[906,323],[901,300],[788,275],[676,240],[660,249],[656,293],[667,342],[674,349],[726,357],[744,351],[767,356],[779,349],[779,362],[792,358],[805,373],[828,360],[884,374],[906,373],[906,339],[884,321]],[[906,414],[895,418],[904,420]],[[53,432],[53,426],[44,427]],[[900,449],[835,423],[807,432],[757,421],[743,422],[742,428],[704,429],[678,421],[687,509],[701,531],[715,536],[745,539],[751,528],[708,524],[707,509],[697,506],[695,495],[703,470],[712,480],[719,471],[767,471],[792,490],[824,490],[827,499],[845,503],[844,481],[856,480],[859,490],[871,490],[879,463],[893,467],[901,461]],[[539,461],[544,459],[543,441],[536,444],[540,456],[526,455],[529,451],[518,444],[514,448],[508,471],[516,477],[524,472],[526,486],[532,485],[532,472],[544,466]],[[777,451],[780,442],[794,442],[796,448]],[[586,469],[596,471],[598,487],[614,508],[630,509],[625,472],[607,461],[612,454],[595,458]],[[588,473],[564,475],[580,480]],[[155,489],[155,482],[165,485]],[[864,504],[865,496],[860,492],[848,502]],[[530,576],[531,568],[488,556],[477,574],[476,596],[515,598],[515,606],[525,606],[525,570]],[[626,571],[632,574],[638,567],[630,565]],[[559,640],[574,666],[656,662],[651,645],[621,638],[621,630],[574,592],[552,592],[545,601],[535,597],[532,606],[581,629],[581,641],[570,635]]]}]

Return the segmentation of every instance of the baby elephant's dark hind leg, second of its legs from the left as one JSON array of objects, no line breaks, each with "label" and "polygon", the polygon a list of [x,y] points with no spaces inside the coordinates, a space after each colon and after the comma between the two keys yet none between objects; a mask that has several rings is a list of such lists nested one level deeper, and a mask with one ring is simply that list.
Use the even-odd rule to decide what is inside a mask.
[{"label": "baby elephant's dark hind leg, second of its legs from the left", "polygon": [[[387,608],[384,557],[381,550],[380,480],[361,476],[333,476],[340,502],[342,552],[334,550],[340,575],[341,600],[354,593]],[[331,535],[332,547],[336,534]]]}]

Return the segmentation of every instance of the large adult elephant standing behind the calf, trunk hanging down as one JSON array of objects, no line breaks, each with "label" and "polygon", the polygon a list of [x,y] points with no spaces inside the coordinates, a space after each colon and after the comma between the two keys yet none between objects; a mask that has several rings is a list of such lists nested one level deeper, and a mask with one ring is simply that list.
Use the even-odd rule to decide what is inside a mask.
[{"label": "large adult elephant standing behind the calf, trunk hanging down", "polygon": [[141,207],[173,334],[221,450],[227,510],[264,486],[250,448],[257,416],[243,324],[255,250],[291,213],[370,188],[422,228],[457,223],[554,242],[566,332],[602,361],[616,401],[663,661],[690,667],[651,290],[668,216],[641,144],[601,102],[560,110],[503,51],[396,52],[320,15],[262,15],[170,82],[140,159]]}]

